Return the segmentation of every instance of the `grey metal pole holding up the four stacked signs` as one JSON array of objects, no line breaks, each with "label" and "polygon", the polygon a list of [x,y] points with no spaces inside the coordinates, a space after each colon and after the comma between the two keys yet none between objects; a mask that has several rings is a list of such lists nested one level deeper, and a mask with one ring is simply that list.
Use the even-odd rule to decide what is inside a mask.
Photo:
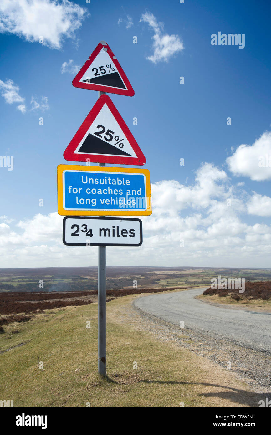
[{"label": "grey metal pole holding up the four stacked signs", "polygon": [[106,246],[98,246],[98,373],[106,376]]}]

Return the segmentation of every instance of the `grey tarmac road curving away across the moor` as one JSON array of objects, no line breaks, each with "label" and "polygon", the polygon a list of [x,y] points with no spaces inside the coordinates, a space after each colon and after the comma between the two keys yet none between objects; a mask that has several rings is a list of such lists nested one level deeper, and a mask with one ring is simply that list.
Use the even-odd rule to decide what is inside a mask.
[{"label": "grey tarmac road curving away across the moor", "polygon": [[134,305],[164,321],[176,325],[184,321],[184,328],[271,354],[271,313],[206,304],[194,298],[203,291],[204,288],[194,288],[144,296],[136,299]]}]

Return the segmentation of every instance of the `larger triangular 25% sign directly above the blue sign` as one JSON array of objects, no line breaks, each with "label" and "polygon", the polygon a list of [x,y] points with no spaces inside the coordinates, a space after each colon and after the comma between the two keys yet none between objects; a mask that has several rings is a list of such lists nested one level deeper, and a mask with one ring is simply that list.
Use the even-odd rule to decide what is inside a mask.
[{"label": "larger triangular 25% sign directly above the blue sign", "polygon": [[64,152],[68,161],[144,165],[146,158],[108,95],[102,94]]}]

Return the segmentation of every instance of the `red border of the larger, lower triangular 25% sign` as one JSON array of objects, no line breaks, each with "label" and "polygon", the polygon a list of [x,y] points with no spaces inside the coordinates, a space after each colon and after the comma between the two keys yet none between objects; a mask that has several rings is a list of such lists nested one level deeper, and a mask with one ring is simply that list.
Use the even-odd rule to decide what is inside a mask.
[{"label": "red border of the larger, lower triangular 25% sign", "polygon": [[[83,140],[90,126],[92,126],[94,120],[97,115],[100,113],[104,104],[107,105],[111,114],[114,116],[117,124],[123,131],[127,141],[129,141],[130,146],[132,147],[134,154],[136,157],[124,157],[117,155],[107,155],[107,154],[91,154],[91,153],[74,153],[80,142]],[[95,126],[96,127],[96,126]],[[64,151],[64,159],[67,161],[77,161],[77,162],[92,162],[92,163],[109,163],[109,164],[125,164],[125,165],[137,165],[142,166],[146,163],[146,157],[142,153],[139,145],[134,139],[133,134],[130,132],[129,127],[125,123],[124,119],[121,117],[117,108],[114,106],[113,101],[106,94],[102,94],[100,98],[96,101],[86,119],[78,129],[77,133],[74,135],[73,139],[70,141],[70,144],[67,146]]]}]

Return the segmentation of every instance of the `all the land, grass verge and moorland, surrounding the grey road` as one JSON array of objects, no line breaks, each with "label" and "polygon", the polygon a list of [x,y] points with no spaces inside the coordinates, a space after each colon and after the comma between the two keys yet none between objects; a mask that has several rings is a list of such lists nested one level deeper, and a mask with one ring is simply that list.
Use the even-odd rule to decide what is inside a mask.
[{"label": "all the land, grass verge and moorland, surrounding the grey road", "polygon": [[131,309],[139,295],[206,288],[217,275],[245,278],[248,295],[260,297],[253,301],[269,301],[262,299],[270,294],[269,269],[108,267],[107,378],[101,378],[97,268],[1,269],[0,399],[9,391],[14,406],[258,406],[261,395],[226,366],[157,338]]}]

